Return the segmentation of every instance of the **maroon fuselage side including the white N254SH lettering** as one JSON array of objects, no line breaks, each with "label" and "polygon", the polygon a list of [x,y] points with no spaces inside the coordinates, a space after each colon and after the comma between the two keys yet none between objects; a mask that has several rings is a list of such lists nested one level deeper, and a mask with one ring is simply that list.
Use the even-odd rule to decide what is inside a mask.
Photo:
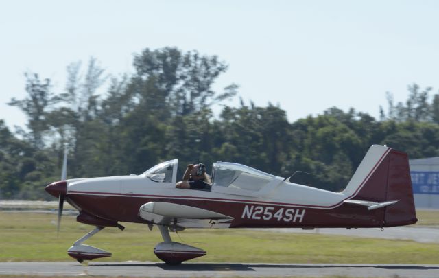
[{"label": "maroon fuselage side including the white N254SH lettering", "polygon": [[[229,228],[387,227],[383,222],[384,209],[368,211],[365,207],[342,202],[333,207],[309,207],[287,202],[246,200],[189,189],[150,191],[151,194],[69,191],[67,201],[95,216],[118,222],[148,223],[138,215],[141,205],[147,202],[170,202],[231,216],[233,220],[226,225]],[[226,228],[224,224],[211,224],[210,227]]]}]

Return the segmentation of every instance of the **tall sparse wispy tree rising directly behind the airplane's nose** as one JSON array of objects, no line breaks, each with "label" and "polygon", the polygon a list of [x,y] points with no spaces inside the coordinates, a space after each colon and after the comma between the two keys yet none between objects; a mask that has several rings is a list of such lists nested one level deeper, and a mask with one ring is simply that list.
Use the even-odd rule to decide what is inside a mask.
[{"label": "tall sparse wispy tree rising directly behind the airplane's nose", "polygon": [[82,176],[92,172],[93,176],[104,174],[96,167],[96,148],[102,126],[97,122],[100,110],[98,89],[104,84],[106,76],[95,58],[90,58],[84,74],[81,62],[67,67],[67,84],[64,93],[59,95],[60,106],[47,115],[47,124],[52,133],[59,136],[53,147],[60,156],[68,146],[71,150],[69,173]]}]

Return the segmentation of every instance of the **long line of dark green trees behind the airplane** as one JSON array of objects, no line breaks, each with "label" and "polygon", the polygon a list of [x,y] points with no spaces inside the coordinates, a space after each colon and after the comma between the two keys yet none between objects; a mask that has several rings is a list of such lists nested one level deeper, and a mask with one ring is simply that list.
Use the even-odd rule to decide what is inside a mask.
[{"label": "long line of dark green trees behind the airplane", "polygon": [[[62,92],[25,75],[26,97],[9,104],[25,113],[26,129],[12,132],[0,120],[1,199],[49,199],[43,188],[59,179],[66,147],[69,178],[141,174],[178,158],[179,176],[188,163],[211,170],[215,161],[232,161],[284,177],[302,171],[292,181],[333,191],[346,186],[374,143],[412,159],[439,155],[439,95],[430,102],[431,88],[412,84],[398,104],[388,93],[379,120],[332,107],[290,123],[279,106],[224,104],[239,88],[213,89],[228,68],[217,56],[145,49],[133,65],[132,75],[115,78],[94,58],[84,70],[72,63]],[[214,105],[222,105],[218,117]]]}]

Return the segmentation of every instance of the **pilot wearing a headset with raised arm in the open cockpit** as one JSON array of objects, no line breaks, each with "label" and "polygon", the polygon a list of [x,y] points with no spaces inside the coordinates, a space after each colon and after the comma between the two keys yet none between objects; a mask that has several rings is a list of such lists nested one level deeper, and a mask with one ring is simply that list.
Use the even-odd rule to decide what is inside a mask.
[{"label": "pilot wearing a headset with raised arm in the open cockpit", "polygon": [[183,175],[183,180],[176,184],[176,188],[211,191],[211,183],[211,178],[206,173],[206,165],[203,163],[189,164]]}]

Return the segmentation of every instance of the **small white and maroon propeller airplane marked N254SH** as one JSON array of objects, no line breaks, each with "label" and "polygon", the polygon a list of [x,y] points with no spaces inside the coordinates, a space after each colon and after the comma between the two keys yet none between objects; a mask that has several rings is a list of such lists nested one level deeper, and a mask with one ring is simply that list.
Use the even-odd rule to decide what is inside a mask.
[{"label": "small white and maroon propeller airplane marked N254SH", "polygon": [[[64,159],[65,160],[65,159]],[[110,257],[82,244],[119,222],[157,226],[163,242],[154,254],[169,265],[206,255],[174,242],[169,232],[212,228],[383,228],[417,222],[407,154],[372,145],[342,192],[292,183],[246,165],[213,163],[210,191],[176,188],[178,160],[143,174],[73,178],[47,185],[59,198],[58,231],[64,200],[78,209],[76,220],[95,229],[76,241],[68,255],[84,260]]]}]

